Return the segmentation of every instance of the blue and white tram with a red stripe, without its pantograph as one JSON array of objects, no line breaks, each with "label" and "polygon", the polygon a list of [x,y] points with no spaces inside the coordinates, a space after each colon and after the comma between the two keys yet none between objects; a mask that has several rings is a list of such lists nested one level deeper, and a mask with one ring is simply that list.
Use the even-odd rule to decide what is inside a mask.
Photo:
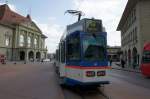
[{"label": "blue and white tram with a red stripe, without its pantograph", "polygon": [[102,20],[82,19],[68,25],[56,50],[56,71],[61,85],[109,84],[107,33]]}]

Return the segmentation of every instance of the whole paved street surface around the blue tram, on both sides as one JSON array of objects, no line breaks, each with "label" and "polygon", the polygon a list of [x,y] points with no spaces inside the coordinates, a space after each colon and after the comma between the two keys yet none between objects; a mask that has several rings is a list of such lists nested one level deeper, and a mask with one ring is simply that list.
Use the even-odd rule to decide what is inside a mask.
[{"label": "whole paved street surface around the blue tram, on both sides", "polygon": [[0,65],[0,99],[149,99],[150,79],[112,69],[111,84],[90,93],[61,88],[51,63]]}]

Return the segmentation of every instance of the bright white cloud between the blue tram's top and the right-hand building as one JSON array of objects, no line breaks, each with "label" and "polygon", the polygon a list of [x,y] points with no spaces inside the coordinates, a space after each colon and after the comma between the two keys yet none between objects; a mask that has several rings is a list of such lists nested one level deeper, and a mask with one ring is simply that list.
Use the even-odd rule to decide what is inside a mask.
[{"label": "bright white cloud between the blue tram's top and the right-hand building", "polygon": [[127,0],[73,0],[74,9],[85,13],[84,17],[102,19],[108,33],[108,45],[121,45],[117,25]]}]

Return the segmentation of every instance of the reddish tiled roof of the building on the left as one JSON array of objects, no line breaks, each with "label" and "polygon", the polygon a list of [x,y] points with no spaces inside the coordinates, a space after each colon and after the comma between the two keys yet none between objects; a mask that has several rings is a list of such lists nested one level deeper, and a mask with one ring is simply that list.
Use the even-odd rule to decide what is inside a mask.
[{"label": "reddish tiled roof of the building on the left", "polygon": [[22,22],[31,21],[30,16],[24,17],[12,11],[7,4],[0,5],[0,23],[4,24],[20,24]]}]

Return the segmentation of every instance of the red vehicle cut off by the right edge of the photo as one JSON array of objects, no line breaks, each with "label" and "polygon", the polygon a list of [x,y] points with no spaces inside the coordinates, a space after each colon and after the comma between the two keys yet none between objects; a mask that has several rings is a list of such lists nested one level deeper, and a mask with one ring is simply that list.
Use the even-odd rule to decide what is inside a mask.
[{"label": "red vehicle cut off by the right edge of the photo", "polygon": [[141,72],[144,76],[150,77],[150,42],[144,44]]}]

